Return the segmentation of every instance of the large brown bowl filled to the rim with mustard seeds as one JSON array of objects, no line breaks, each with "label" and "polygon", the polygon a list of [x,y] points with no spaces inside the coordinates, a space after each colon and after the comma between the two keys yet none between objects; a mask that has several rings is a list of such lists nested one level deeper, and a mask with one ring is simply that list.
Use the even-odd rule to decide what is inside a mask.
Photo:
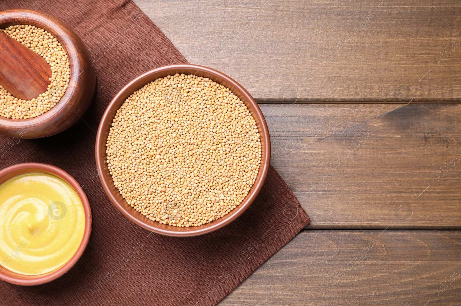
[{"label": "large brown bowl filled to the rim with mustard seeds", "polygon": [[[174,75],[176,73],[184,73],[186,75],[195,74],[196,76],[203,76],[212,79],[214,82],[217,82],[221,85],[232,90],[236,96],[242,100],[256,121],[256,126],[258,127],[261,139],[261,164],[258,176],[254,185],[251,187],[245,199],[240,203],[233,211],[221,217],[213,222],[208,224],[203,224],[200,226],[191,226],[191,227],[176,227],[166,224],[160,224],[159,222],[149,220],[144,217],[140,212],[137,212],[133,207],[128,205],[126,200],[118,192],[118,189],[115,187],[112,176],[109,173],[107,168],[106,161],[106,141],[107,136],[109,135],[109,129],[112,124],[112,119],[115,117],[117,110],[122,106],[126,98],[130,96],[135,90],[138,90],[145,84],[155,81],[159,77],[165,77],[168,75]],[[207,68],[199,65],[189,65],[189,64],[180,64],[180,65],[168,65],[160,67],[151,71],[144,73],[141,76],[136,77],[133,81],[126,84],[117,95],[112,99],[109,106],[106,108],[106,112],[101,118],[99,124],[98,135],[96,136],[96,166],[98,168],[98,174],[102,186],[106,191],[107,196],[112,201],[112,203],[117,207],[117,209],[124,214],[124,216],[130,221],[136,223],[137,225],[145,228],[146,230],[153,231],[155,233],[166,235],[166,236],[175,236],[175,237],[190,237],[190,236],[199,236],[211,233],[215,230],[230,224],[236,218],[238,218],[243,212],[245,212],[248,207],[253,203],[256,196],[259,194],[264,181],[266,180],[267,171],[269,170],[269,163],[271,159],[271,141],[269,139],[269,130],[267,129],[266,119],[253,97],[248,94],[248,91],[245,90],[239,83],[231,79],[229,76],[226,76],[224,73],[216,71],[211,68]]]}]

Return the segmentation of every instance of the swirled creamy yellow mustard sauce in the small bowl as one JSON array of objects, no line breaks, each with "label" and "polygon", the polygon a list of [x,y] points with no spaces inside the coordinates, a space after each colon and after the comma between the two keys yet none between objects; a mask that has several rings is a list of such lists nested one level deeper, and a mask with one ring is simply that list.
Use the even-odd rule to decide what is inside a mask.
[{"label": "swirled creamy yellow mustard sauce in the small bowl", "polygon": [[26,173],[0,185],[0,271],[25,275],[54,271],[77,252],[85,212],[64,180]]}]

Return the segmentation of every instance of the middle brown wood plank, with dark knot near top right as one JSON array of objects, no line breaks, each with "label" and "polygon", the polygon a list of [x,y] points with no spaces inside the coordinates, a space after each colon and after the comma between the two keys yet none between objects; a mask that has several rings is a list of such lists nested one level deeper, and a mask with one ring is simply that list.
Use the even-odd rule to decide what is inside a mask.
[{"label": "middle brown wood plank, with dark knot near top right", "polygon": [[312,229],[460,229],[460,104],[261,105]]}]

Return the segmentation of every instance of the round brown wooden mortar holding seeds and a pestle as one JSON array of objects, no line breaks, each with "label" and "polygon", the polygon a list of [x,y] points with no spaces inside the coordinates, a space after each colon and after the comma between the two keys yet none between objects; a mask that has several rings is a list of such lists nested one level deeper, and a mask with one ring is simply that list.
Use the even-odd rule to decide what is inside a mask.
[{"label": "round brown wooden mortar holding seeds and a pestle", "polygon": [[0,117],[0,134],[19,138],[42,138],[70,128],[87,110],[95,92],[96,74],[83,42],[62,21],[43,12],[14,9],[0,12],[0,28],[29,24],[51,33],[64,47],[71,64],[71,76],[65,94],[48,112],[35,118]]}]

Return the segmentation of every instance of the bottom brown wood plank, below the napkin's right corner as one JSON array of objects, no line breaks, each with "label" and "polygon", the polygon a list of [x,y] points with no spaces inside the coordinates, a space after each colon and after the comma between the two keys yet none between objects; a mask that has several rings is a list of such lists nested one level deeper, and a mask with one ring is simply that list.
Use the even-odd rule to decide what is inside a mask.
[{"label": "bottom brown wood plank, below the napkin's right corner", "polygon": [[304,230],[219,305],[459,305],[460,234]]}]

